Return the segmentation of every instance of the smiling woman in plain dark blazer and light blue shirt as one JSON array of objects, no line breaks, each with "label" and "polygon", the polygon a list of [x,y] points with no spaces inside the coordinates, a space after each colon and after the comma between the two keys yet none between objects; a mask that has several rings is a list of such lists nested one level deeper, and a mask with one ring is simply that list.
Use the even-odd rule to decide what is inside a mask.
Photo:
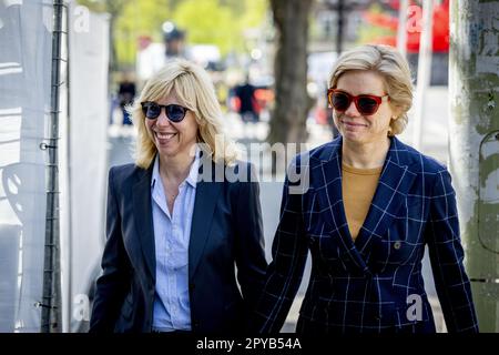
[{"label": "smiling woman in plain dark blazer and light blue shirt", "polygon": [[136,158],[109,173],[90,331],[238,333],[267,266],[259,187],[235,179],[249,165],[215,144],[222,114],[213,84],[200,67],[169,61],[132,113]]}]

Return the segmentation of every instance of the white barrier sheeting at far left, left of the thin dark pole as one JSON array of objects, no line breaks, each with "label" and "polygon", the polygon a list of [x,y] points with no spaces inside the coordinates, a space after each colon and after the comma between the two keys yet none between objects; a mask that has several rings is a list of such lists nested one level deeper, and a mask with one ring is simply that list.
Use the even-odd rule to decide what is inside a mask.
[{"label": "white barrier sheeting at far left, left of the thin dark pole", "polygon": [[51,1],[0,1],[0,332],[39,332]]}]

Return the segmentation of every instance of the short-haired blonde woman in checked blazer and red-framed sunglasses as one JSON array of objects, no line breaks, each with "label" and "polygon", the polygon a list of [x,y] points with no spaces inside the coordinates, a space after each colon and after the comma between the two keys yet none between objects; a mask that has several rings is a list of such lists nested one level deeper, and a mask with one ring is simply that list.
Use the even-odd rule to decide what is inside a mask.
[{"label": "short-haired blonde woman in checked blazer and red-framed sunglasses", "polygon": [[[428,246],[447,329],[478,332],[449,172],[395,138],[411,105],[408,63],[393,48],[358,47],[340,55],[329,84],[340,136],[291,166],[303,179],[285,181],[253,329],[279,332],[310,251],[298,333],[436,332],[421,273]],[[342,190],[345,165],[379,169],[355,241]]]}]

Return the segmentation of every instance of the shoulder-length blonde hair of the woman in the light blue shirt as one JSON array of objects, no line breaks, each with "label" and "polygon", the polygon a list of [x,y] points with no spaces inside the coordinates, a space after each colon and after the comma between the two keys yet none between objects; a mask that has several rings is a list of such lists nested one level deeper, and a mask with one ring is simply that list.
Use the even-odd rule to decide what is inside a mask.
[{"label": "shoulder-length blonde hair of the woman in the light blue shirt", "polygon": [[[214,162],[232,164],[236,151],[231,140],[223,135],[222,110],[207,72],[187,60],[174,59],[154,73],[145,83],[140,97],[128,108],[136,126],[135,164],[147,169],[157,150],[147,134],[141,102],[155,101],[174,93],[179,104],[194,113],[198,125],[197,143],[204,143],[204,153]],[[207,151],[206,151],[207,148]]]}]

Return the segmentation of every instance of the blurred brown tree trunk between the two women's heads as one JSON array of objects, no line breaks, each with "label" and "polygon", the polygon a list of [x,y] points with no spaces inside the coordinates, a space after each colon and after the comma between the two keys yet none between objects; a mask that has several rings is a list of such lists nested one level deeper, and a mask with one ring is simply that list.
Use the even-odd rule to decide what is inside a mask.
[{"label": "blurred brown tree trunk between the two women's heads", "polygon": [[267,141],[302,143],[307,140],[308,16],[313,0],[271,0],[277,51],[274,61],[275,108]]}]

